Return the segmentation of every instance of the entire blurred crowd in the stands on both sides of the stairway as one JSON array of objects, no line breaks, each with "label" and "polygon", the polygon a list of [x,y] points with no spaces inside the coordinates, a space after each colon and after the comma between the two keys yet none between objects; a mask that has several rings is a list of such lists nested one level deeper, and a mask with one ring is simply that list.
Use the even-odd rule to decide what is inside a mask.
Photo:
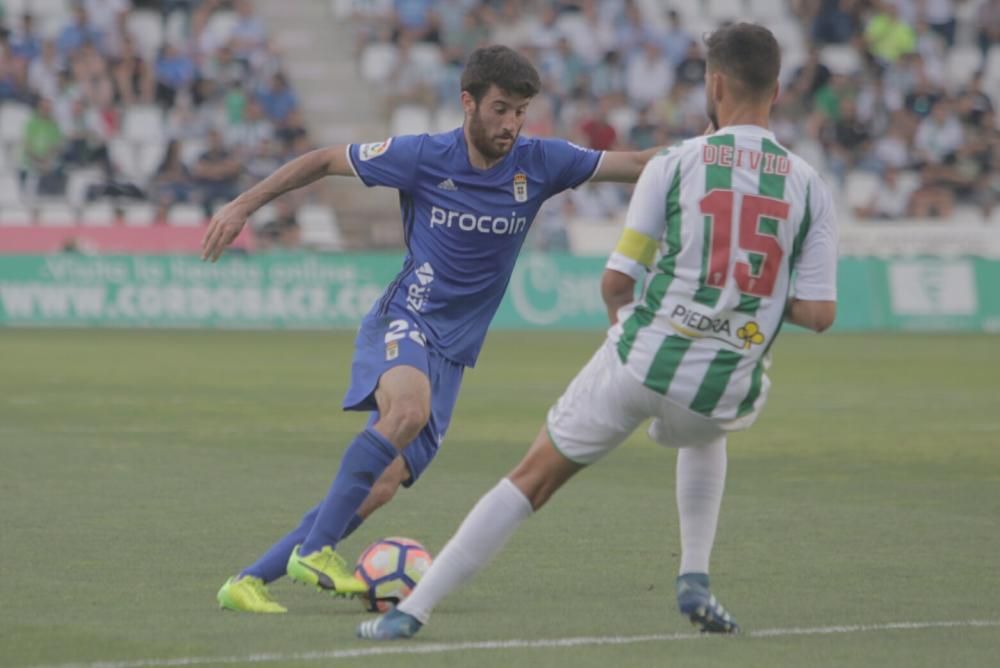
[{"label": "entire blurred crowd in the stands on both sides of the stairway", "polygon": [[[701,133],[701,37],[755,20],[783,48],[772,127],[826,173],[846,218],[1000,224],[1000,0],[316,2],[350,24],[385,134],[460,124],[466,57],[504,43],[543,77],[524,133],[597,149]],[[293,90],[251,0],[0,0],[0,12],[0,221],[200,224],[319,134],[299,102],[311,91]],[[535,245],[565,249],[565,221],[620,217],[628,195],[567,193]],[[261,243],[335,247],[329,204],[283,198],[255,221]]]}]

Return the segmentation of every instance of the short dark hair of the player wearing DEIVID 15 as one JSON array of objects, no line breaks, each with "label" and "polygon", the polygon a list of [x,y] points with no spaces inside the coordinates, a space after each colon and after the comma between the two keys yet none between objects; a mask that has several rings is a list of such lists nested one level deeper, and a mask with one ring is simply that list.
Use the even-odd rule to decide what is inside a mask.
[{"label": "short dark hair of the player wearing DEIVID 15", "polygon": [[781,47],[770,30],[755,23],[734,23],[705,38],[710,70],[732,77],[747,96],[774,92],[781,71]]}]

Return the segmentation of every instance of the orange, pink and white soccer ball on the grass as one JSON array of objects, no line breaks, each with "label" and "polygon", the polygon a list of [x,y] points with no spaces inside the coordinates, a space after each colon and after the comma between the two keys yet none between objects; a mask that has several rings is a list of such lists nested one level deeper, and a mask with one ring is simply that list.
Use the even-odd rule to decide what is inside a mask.
[{"label": "orange, pink and white soccer ball on the grass", "polygon": [[388,612],[409,596],[430,567],[430,552],[411,538],[375,541],[354,567],[354,575],[368,585],[362,604],[369,612]]}]

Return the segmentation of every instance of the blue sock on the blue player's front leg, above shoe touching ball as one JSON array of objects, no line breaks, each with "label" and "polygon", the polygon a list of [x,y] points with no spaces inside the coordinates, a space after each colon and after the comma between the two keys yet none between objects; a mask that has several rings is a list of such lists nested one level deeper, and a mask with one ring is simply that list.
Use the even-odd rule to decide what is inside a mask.
[{"label": "blue sock on the blue player's front leg, above shoe touching ball", "polygon": [[310,554],[337,541],[347,531],[372,485],[399,454],[385,436],[368,427],[354,437],[340,460],[340,470],[330,491],[319,505],[319,513],[299,554]]}]

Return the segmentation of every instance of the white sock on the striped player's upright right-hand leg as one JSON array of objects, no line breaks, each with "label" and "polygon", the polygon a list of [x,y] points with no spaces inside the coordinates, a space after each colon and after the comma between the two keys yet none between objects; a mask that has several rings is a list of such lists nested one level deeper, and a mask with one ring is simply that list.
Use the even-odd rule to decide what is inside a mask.
[{"label": "white sock on the striped player's upright right-hand leg", "polygon": [[726,487],[726,439],[677,451],[677,513],[681,524],[680,573],[708,573]]}]

